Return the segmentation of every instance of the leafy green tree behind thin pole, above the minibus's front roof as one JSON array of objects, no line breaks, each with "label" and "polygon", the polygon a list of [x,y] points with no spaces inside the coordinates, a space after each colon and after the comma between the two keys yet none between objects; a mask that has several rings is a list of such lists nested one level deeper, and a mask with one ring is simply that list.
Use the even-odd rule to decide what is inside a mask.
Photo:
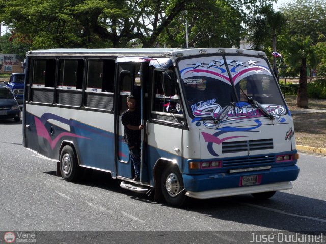
[{"label": "leafy green tree behind thin pole, above the minibus's front roof", "polygon": [[[226,1],[207,0],[187,4],[165,31],[159,43],[186,47],[186,20],[189,47],[237,47],[244,35],[244,15]],[[207,13],[207,14],[206,14]]]}]

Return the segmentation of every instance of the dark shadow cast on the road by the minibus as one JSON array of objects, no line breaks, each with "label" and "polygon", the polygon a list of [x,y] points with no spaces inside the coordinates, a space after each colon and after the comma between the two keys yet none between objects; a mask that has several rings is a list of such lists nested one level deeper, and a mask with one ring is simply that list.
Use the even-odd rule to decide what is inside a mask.
[{"label": "dark shadow cast on the road by the minibus", "polygon": [[[45,173],[56,176],[56,171]],[[134,199],[135,204],[137,201],[141,201],[155,205],[166,205],[155,202],[153,194],[146,196],[122,189],[120,187],[121,181],[112,179],[110,173],[94,170],[93,172],[88,171],[87,175],[88,177],[81,179],[78,184],[125,194]],[[214,218],[216,221],[224,220],[253,225],[255,229],[257,226],[261,226],[298,233],[319,231],[320,234],[321,231],[326,230],[325,206],[326,201],[277,192],[274,197],[268,200],[257,200],[249,194],[207,200],[187,198],[187,204],[180,211],[202,214]],[[209,231],[209,228],[207,230]]]}]

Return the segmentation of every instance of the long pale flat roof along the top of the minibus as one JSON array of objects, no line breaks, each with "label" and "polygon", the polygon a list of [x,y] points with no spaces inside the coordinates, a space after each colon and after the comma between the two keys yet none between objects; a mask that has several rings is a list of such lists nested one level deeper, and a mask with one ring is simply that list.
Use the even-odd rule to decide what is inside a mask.
[{"label": "long pale flat roof along the top of the minibus", "polygon": [[182,56],[194,56],[201,54],[245,54],[266,57],[266,54],[261,51],[236,48],[57,48],[32,50],[27,52],[28,56],[170,56],[173,59],[177,59],[178,57]]}]

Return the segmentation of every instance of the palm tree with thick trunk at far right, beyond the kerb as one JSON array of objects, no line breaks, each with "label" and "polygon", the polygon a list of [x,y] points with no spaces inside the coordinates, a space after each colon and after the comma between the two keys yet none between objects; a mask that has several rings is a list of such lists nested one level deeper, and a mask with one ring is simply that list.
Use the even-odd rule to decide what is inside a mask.
[{"label": "palm tree with thick trunk at far right, beyond the kerb", "polygon": [[287,46],[289,56],[285,58],[285,62],[290,65],[289,69],[299,68],[299,89],[296,106],[301,108],[308,108],[307,65],[310,65],[310,68],[317,66],[317,55],[312,44],[313,40],[307,36],[305,38],[293,38]]}]

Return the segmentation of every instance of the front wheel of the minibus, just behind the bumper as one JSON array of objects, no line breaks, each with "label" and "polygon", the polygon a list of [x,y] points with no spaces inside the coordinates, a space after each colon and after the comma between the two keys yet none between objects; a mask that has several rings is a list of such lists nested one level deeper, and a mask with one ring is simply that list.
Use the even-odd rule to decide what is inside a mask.
[{"label": "front wheel of the minibus, just behind the bumper", "polygon": [[183,205],[186,198],[182,175],[177,166],[166,167],[161,176],[161,190],[165,201],[174,207]]}]

